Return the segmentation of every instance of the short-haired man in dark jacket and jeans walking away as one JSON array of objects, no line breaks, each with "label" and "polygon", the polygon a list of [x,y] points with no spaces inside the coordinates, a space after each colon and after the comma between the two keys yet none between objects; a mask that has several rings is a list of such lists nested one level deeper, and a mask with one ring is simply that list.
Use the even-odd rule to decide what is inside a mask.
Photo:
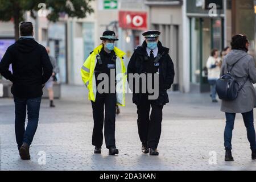
[{"label": "short-haired man in dark jacket and jeans walking away", "polygon": [[[52,75],[52,64],[46,48],[34,38],[31,22],[20,24],[20,38],[11,45],[0,63],[0,73],[13,82],[11,93],[15,104],[15,134],[20,158],[30,159],[30,145],[39,121],[43,86]],[[13,73],[9,71],[12,65]],[[26,111],[28,123],[25,130]]]}]

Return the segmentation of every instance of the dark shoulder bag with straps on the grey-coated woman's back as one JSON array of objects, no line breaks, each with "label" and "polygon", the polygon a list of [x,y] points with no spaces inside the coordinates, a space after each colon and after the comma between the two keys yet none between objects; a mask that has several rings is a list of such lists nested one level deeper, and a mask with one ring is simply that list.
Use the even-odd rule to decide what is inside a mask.
[{"label": "dark shoulder bag with straps on the grey-coated woman's back", "polygon": [[[239,60],[241,60],[241,59],[239,59]],[[230,69],[229,69],[229,65],[227,64],[228,72],[226,74],[222,75],[216,81],[216,92],[217,92],[220,100],[226,100],[226,101],[235,100],[238,96],[238,93],[242,90],[243,86],[245,85],[246,81],[249,78],[249,77],[247,77],[246,81],[243,82],[243,84],[241,86],[239,86],[238,81],[237,81],[238,77],[236,77],[230,73],[236,63],[234,63]]]}]

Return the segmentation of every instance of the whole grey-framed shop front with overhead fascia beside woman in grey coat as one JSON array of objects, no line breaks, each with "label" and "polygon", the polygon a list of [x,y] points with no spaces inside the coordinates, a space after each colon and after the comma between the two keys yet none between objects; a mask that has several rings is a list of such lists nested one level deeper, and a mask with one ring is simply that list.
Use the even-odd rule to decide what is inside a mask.
[{"label": "whole grey-framed shop front with overhead fascia beside woman in grey coat", "polygon": [[187,2],[191,92],[209,92],[207,59],[213,48],[224,48],[224,11],[218,3],[217,14],[210,16],[203,1]]}]

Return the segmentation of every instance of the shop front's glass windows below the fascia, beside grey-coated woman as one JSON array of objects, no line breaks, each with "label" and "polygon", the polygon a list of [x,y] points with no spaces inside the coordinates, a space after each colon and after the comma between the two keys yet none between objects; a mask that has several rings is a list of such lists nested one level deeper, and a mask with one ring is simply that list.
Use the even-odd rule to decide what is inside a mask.
[{"label": "shop front's glass windows below the fascia, beside grey-coated woman", "polygon": [[224,48],[223,18],[189,18],[191,86],[208,92],[207,59],[210,51]]}]

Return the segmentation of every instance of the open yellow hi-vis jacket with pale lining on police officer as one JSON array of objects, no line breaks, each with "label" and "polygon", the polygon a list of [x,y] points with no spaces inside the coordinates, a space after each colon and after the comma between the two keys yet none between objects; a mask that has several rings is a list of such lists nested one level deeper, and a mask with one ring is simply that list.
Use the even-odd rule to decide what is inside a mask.
[{"label": "open yellow hi-vis jacket with pale lining on police officer", "polygon": [[[84,65],[82,65],[81,68],[81,76],[82,81],[84,81],[85,85],[89,89],[89,96],[88,99],[90,101],[95,102],[96,100],[96,93],[97,93],[97,86],[96,86],[96,77],[94,74],[94,69],[97,64],[97,58],[99,52],[101,52],[101,49],[103,48],[103,45],[96,47],[93,52],[90,54],[90,56],[86,59]],[[117,55],[116,60],[116,81],[117,86],[115,88],[117,93],[117,104],[121,106],[125,106],[125,90],[126,90],[126,80],[127,80],[127,73],[125,64],[123,63],[123,56],[126,55],[125,52],[121,51],[117,47],[114,47],[114,52]]]}]

